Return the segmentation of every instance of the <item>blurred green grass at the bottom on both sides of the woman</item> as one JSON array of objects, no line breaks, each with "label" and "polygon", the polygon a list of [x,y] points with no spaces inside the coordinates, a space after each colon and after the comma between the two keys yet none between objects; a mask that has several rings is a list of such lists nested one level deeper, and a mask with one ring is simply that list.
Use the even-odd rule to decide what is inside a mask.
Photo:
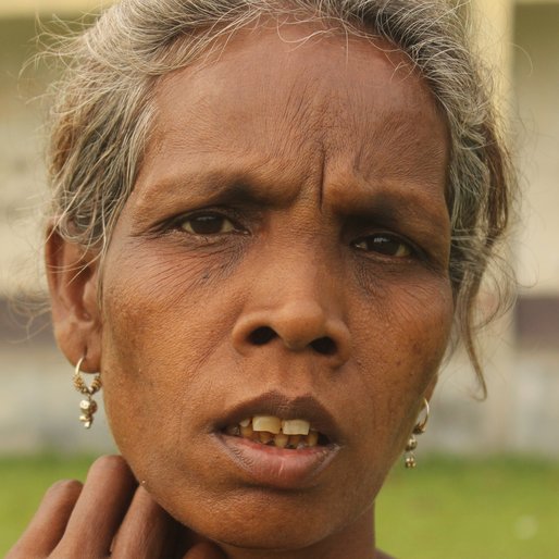
[{"label": "blurred green grass at the bottom on both sides of the woman", "polygon": [[[0,557],[45,489],[84,479],[89,457],[0,458]],[[398,559],[559,557],[559,464],[423,458],[396,468],[377,501],[378,545]]]}]

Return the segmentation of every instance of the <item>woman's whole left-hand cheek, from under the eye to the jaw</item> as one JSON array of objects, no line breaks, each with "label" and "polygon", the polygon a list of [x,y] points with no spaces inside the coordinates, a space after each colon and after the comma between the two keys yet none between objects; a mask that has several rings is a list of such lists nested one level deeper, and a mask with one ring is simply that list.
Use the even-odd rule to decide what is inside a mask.
[{"label": "woman's whole left-hand cheek, from under the eye to the jaw", "polygon": [[204,305],[211,286],[203,262],[138,254],[128,247],[107,262],[102,375],[116,443],[141,470],[148,461],[162,468],[184,446],[190,415],[203,409],[211,390],[211,378],[199,370],[228,321],[219,296]]}]

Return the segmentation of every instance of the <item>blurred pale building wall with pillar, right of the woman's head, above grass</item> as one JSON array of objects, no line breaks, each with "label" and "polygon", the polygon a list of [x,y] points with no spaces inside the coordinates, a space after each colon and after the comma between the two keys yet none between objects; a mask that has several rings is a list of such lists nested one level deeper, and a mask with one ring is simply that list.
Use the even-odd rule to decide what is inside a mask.
[{"label": "blurred pale building wall with pillar, right of the woman's head, above grass", "polygon": [[500,110],[514,132],[523,204],[510,254],[523,287],[513,312],[482,335],[487,401],[469,398],[472,373],[464,356],[455,356],[422,444],[558,456],[559,3],[476,3],[482,52],[500,69]]}]

